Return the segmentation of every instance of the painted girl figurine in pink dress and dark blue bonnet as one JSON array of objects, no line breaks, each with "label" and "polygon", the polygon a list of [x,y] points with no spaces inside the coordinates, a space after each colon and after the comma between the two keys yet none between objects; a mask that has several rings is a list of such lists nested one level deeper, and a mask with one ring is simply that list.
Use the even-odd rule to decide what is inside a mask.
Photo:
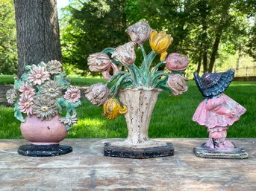
[{"label": "painted girl figurine in pink dress and dark blue bonnet", "polygon": [[234,70],[206,73],[202,77],[194,72],[194,77],[205,100],[197,107],[193,121],[206,126],[209,132],[207,143],[196,147],[195,154],[203,158],[237,158],[239,153],[238,158],[247,158],[248,155],[243,149],[226,140],[228,127],[246,112],[243,106],[223,94],[234,78]]}]

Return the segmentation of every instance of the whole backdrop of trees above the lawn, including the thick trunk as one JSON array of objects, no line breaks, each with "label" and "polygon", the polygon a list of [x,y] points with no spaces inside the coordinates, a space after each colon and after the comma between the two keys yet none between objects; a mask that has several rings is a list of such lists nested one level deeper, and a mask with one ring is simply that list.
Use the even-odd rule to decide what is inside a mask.
[{"label": "whole backdrop of trees above the lawn, including the thick trunk", "polygon": [[19,74],[46,57],[85,74],[89,54],[128,42],[125,29],[141,19],[171,34],[169,53],[187,54],[193,70],[212,72],[222,51],[256,59],[255,0],[74,0],[61,13],[62,57],[56,0],[15,0],[16,28],[13,1],[0,4],[0,74],[18,68],[16,30]]}]

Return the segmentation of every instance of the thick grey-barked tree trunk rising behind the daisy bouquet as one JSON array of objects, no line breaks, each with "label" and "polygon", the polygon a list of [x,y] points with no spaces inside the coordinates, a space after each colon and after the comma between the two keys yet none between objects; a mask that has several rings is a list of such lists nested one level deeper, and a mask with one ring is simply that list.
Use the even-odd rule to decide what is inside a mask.
[{"label": "thick grey-barked tree trunk rising behind the daisy bouquet", "polygon": [[62,62],[56,0],[14,0],[18,76],[26,65],[57,59]]}]

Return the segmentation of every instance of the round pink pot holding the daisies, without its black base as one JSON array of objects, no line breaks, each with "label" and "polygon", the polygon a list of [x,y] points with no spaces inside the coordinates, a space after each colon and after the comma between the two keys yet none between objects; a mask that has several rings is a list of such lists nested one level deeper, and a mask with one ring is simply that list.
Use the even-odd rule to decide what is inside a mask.
[{"label": "round pink pot holding the daisies, without its black base", "polygon": [[58,144],[67,134],[65,125],[59,120],[59,115],[51,120],[41,120],[34,115],[26,117],[20,126],[22,136],[34,145]]}]

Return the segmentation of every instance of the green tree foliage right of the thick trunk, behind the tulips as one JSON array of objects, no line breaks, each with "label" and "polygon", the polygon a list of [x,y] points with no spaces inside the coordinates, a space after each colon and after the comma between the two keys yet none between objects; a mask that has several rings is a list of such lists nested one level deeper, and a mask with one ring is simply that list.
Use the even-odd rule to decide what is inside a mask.
[{"label": "green tree foliage right of the thick trunk, behind the tulips", "polygon": [[[125,29],[145,19],[166,30],[169,52],[187,54],[190,67],[212,72],[222,51],[255,56],[253,0],[88,0],[73,1],[61,21],[65,62],[87,70],[87,57],[128,42]],[[254,25],[252,25],[252,21]]]}]

